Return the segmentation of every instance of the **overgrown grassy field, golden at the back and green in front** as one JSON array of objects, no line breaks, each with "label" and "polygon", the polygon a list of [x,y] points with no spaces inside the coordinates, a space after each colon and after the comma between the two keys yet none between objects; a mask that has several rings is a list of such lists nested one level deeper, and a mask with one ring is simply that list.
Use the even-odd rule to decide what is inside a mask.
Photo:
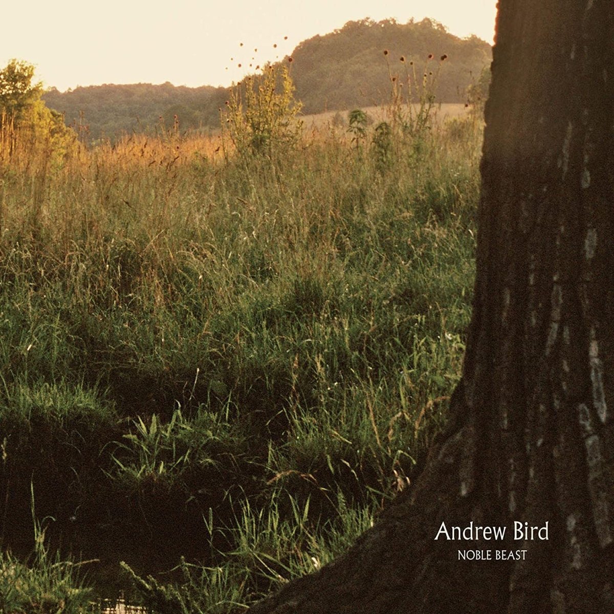
[{"label": "overgrown grassy field, golden at the back and green in front", "polygon": [[388,126],[4,134],[0,610],[242,612],[408,484],[460,376],[481,130]]}]

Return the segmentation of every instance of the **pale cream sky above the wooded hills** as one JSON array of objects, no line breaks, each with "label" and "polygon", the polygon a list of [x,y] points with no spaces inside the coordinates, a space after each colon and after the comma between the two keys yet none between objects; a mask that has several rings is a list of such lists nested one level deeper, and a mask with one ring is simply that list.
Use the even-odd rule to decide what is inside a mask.
[{"label": "pale cream sky above the wooded hills", "polygon": [[37,79],[45,87],[62,91],[104,83],[230,85],[251,72],[250,63],[283,58],[301,41],[365,17],[394,17],[400,23],[430,17],[456,36],[476,34],[492,43],[495,4],[496,0],[7,2],[2,7],[0,68],[10,58],[26,60],[36,66]]}]

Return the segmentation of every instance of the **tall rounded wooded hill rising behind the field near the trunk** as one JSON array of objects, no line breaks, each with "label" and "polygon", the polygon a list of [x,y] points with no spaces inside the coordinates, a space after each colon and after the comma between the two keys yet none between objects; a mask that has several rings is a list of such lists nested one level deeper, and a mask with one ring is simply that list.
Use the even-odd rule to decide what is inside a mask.
[{"label": "tall rounded wooded hill rising behind the field near the trunk", "polygon": [[424,68],[437,71],[443,55],[447,58],[439,67],[437,101],[464,102],[468,85],[491,61],[487,42],[476,36],[460,39],[430,19],[405,24],[391,19],[349,21],[330,34],[301,42],[293,51],[296,96],[305,113],[385,103],[391,92],[388,66],[403,83],[406,69],[411,75],[415,66],[420,78]]}]

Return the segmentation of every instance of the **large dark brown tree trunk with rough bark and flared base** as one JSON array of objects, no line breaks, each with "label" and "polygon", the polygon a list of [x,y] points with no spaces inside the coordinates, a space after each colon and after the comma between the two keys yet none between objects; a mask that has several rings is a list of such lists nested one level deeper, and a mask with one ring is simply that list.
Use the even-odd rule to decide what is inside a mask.
[{"label": "large dark brown tree trunk with rough bark and flared base", "polygon": [[[493,58],[448,429],[347,554],[252,614],[614,612],[614,4],[500,0]],[[471,521],[505,540],[435,540]]]}]

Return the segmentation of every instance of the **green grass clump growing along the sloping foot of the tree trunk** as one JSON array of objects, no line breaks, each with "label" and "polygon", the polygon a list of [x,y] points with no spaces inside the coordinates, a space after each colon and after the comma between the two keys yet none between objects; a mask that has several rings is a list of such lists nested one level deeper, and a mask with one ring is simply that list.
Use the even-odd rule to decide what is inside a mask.
[{"label": "green grass clump growing along the sloping foot of the tree trunk", "polygon": [[228,551],[214,556],[217,565],[182,560],[172,570],[179,572],[179,579],[168,583],[151,575],[143,578],[125,563],[122,567],[150,612],[238,614],[290,580],[333,561],[373,526],[376,507],[371,500],[365,507],[352,508],[340,494],[335,516],[314,522],[309,500],[300,505],[276,490],[266,507],[241,503],[226,527],[216,527],[209,515],[209,531],[222,532],[231,544]]}]

